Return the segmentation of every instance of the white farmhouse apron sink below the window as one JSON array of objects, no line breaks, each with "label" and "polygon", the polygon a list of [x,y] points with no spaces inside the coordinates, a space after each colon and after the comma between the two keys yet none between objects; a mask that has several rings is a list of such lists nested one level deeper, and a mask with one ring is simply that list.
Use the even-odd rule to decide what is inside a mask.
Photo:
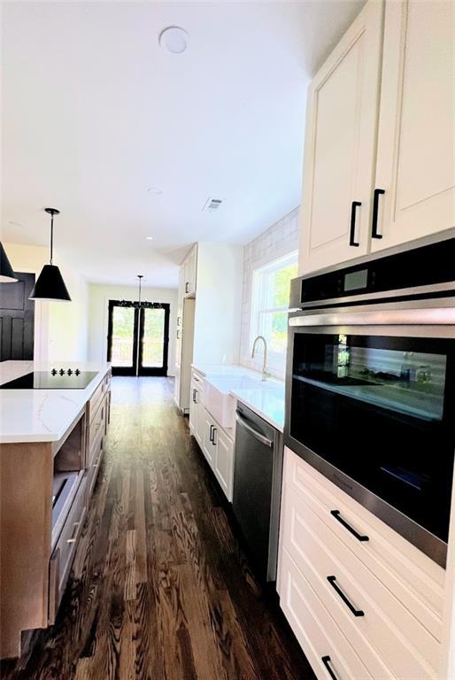
[{"label": "white farmhouse apron sink below the window", "polygon": [[[273,390],[274,383],[262,381],[251,375],[218,375],[204,379],[204,406],[223,428],[235,424],[235,397],[230,390]],[[275,387],[276,389],[276,387]]]}]

